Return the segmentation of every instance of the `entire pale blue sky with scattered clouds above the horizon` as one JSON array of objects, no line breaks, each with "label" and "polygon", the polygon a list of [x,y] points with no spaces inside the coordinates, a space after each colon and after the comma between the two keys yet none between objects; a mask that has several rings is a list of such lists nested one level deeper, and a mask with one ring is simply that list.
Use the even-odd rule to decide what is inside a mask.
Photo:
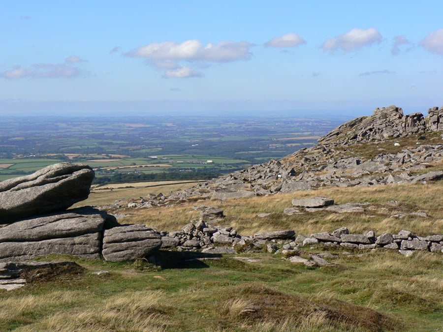
[{"label": "entire pale blue sky with scattered clouds above the horizon", "polygon": [[0,0],[0,112],[443,105],[443,1]]}]

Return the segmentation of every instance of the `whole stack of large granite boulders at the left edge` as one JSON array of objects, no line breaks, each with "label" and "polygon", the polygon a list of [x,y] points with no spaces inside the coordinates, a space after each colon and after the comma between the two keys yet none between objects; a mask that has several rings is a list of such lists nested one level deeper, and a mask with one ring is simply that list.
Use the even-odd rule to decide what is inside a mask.
[{"label": "whole stack of large granite boulders at the left edge", "polygon": [[109,261],[147,257],[161,245],[144,225],[119,225],[112,215],[84,207],[94,171],[60,163],[0,182],[0,262],[67,254]]}]

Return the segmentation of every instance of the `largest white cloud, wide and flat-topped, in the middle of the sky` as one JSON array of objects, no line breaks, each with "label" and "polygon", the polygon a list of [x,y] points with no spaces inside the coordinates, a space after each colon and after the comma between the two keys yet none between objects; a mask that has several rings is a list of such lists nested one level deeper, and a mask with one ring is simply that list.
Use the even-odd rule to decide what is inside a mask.
[{"label": "largest white cloud, wide and flat-topped, in the middle of the sky", "polygon": [[[221,41],[217,44],[203,45],[197,39],[190,39],[180,44],[173,41],[148,44],[127,52],[125,56],[146,59],[150,66],[164,70],[165,78],[198,77],[202,74],[191,68],[190,64],[199,67],[197,62],[224,63],[250,60],[253,46],[254,44],[246,41]],[[187,65],[183,65],[183,62]]]}]

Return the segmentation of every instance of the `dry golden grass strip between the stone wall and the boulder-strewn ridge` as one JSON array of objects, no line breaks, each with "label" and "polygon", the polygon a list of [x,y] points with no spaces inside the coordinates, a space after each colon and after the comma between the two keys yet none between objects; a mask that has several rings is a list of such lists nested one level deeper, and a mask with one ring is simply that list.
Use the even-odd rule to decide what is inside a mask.
[{"label": "dry golden grass strip between the stone wall and the boulder-strewn ridge", "polygon": [[[317,190],[298,191],[253,198],[226,201],[195,201],[168,207],[149,209],[123,209],[130,214],[124,222],[144,223],[158,230],[173,231],[195,221],[199,212],[196,205],[218,206],[224,211],[222,223],[237,229],[242,235],[257,232],[294,229],[298,234],[309,235],[316,232],[332,232],[346,226],[353,233],[374,230],[380,235],[385,232],[396,233],[407,229],[417,235],[443,233],[443,195],[442,182],[405,185],[386,185],[373,187],[325,187]],[[328,211],[304,212],[285,215],[285,208],[291,207],[292,199],[325,196],[336,204],[370,203],[367,211],[359,213],[335,213]],[[397,203],[393,202],[397,201]],[[428,217],[408,215],[423,211]],[[259,218],[258,213],[271,213]],[[393,217],[406,214],[403,217]]]}]

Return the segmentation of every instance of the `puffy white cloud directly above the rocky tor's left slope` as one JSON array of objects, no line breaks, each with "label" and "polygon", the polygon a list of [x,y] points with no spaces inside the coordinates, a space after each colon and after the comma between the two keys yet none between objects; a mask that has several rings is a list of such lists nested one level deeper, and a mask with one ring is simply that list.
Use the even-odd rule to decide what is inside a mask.
[{"label": "puffy white cloud directly above the rocky tor's left slope", "polygon": [[363,46],[379,43],[380,41],[381,34],[375,28],[367,30],[352,29],[336,38],[326,39],[321,47],[325,51],[342,49],[348,52]]}]

